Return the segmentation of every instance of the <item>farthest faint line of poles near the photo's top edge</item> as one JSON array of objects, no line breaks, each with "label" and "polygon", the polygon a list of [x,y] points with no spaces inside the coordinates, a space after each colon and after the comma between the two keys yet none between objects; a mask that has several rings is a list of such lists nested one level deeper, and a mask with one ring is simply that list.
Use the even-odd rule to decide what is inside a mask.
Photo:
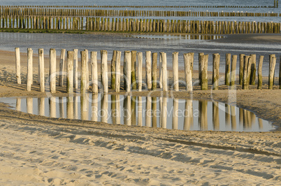
[{"label": "farthest faint line of poles near the photo's top edge", "polygon": [[88,6],[0,6],[8,8],[278,8],[278,1],[274,0],[273,6],[108,6],[108,5],[88,5]]}]

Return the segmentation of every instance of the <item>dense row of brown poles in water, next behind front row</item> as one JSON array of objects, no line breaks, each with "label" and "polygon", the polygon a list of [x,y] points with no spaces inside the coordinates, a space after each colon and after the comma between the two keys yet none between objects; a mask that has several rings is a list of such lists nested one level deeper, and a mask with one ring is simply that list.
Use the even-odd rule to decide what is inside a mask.
[{"label": "dense row of brown poles in water, next behind front row", "polygon": [[279,34],[280,22],[224,22],[199,20],[152,20],[128,18],[5,16],[1,28],[88,31],[139,31],[187,34]]}]

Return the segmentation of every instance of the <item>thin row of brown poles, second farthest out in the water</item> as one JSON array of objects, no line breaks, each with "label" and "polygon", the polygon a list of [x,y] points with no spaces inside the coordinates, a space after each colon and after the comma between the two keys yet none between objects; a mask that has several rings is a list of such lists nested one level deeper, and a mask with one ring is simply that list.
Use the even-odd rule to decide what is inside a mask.
[{"label": "thin row of brown poles, second farthest out in the water", "polygon": [[98,10],[62,8],[0,8],[0,15],[95,16],[95,17],[281,17],[281,13],[171,11],[171,10]]}]

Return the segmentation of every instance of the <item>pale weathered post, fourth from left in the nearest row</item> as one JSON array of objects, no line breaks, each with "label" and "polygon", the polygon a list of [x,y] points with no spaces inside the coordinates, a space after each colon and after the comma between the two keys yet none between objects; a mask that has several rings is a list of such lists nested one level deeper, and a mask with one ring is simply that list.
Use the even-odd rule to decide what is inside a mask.
[{"label": "pale weathered post, fourth from left in the nearest row", "polygon": [[55,48],[50,49],[50,92],[56,93],[57,55]]}]

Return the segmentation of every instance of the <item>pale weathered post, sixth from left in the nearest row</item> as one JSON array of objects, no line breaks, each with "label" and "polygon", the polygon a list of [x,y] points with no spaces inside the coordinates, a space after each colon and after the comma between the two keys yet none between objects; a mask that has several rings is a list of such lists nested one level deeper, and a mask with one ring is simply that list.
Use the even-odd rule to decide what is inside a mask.
[{"label": "pale weathered post, sixth from left in the nearest row", "polygon": [[67,51],[66,92],[69,94],[73,93],[73,59],[74,59],[74,52]]}]

